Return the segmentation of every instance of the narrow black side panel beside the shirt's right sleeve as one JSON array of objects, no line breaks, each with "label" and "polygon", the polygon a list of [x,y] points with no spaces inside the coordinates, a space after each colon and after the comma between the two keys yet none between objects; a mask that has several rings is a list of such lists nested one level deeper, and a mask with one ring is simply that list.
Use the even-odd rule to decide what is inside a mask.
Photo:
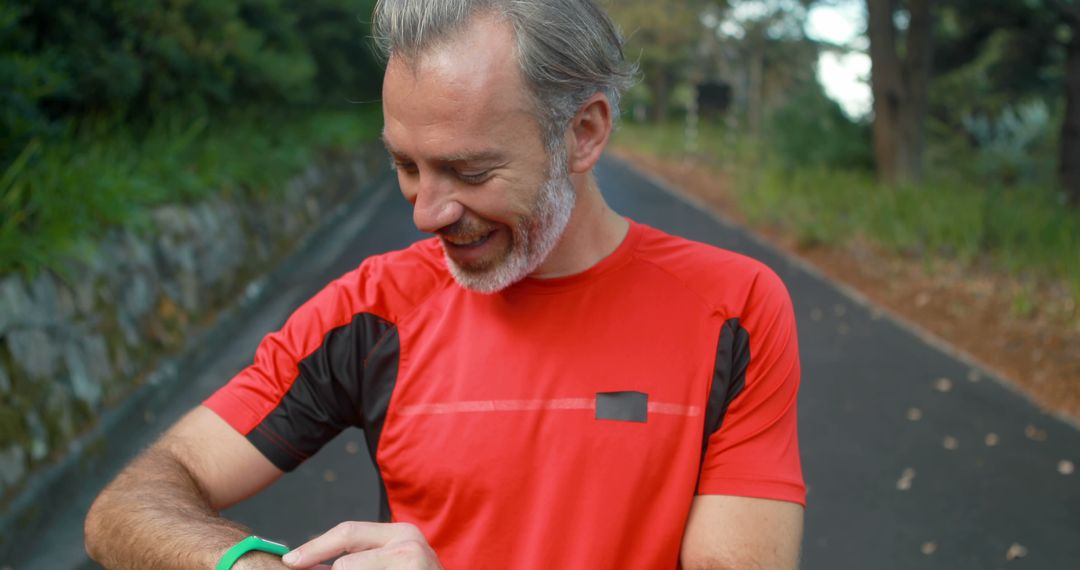
[{"label": "narrow black side panel beside the shirt's right sleeve", "polygon": [[720,327],[720,339],[716,343],[716,366],[713,368],[713,388],[708,391],[705,407],[705,433],[701,442],[701,459],[705,459],[708,437],[719,431],[724,416],[731,401],[742,392],[746,383],[746,367],[750,366],[750,334],[739,324],[738,318],[729,318]]}]

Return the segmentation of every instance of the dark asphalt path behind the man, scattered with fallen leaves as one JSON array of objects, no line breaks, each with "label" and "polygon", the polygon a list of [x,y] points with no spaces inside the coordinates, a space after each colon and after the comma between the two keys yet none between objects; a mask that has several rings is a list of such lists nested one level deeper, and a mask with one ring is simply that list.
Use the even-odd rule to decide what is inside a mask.
[{"label": "dark asphalt path behind the man, scattered with fallen leaves", "polygon": [[[1080,431],[625,165],[606,159],[598,177],[620,213],[761,259],[791,289],[804,364],[805,569],[1080,568],[1080,473],[1062,473],[1063,461],[1080,464]],[[134,418],[110,442],[105,466],[68,491],[70,507],[0,568],[96,568],[81,554],[81,517],[105,478],[248,362],[261,336],[321,284],[419,238],[389,184],[341,220],[278,273],[268,284],[275,295],[242,326],[207,339],[210,349],[180,369],[183,389]],[[339,520],[374,518],[366,458],[362,434],[343,433],[227,515],[291,544]],[[1025,556],[1010,560],[1010,551]]]}]

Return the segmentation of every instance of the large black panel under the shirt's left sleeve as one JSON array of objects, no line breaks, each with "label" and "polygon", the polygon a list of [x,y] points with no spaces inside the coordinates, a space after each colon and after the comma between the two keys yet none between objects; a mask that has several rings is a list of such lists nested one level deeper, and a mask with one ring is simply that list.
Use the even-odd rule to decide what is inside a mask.
[{"label": "large black panel under the shirt's left sleeve", "polygon": [[292,471],[350,426],[363,428],[374,459],[397,379],[397,328],[360,313],[300,361],[278,407],[248,435],[274,465]]}]

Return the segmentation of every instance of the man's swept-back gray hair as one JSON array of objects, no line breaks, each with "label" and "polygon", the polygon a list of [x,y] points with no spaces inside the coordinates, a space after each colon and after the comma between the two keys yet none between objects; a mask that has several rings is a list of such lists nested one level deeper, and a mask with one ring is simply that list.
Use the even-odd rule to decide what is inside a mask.
[{"label": "man's swept-back gray hair", "polygon": [[594,94],[607,96],[618,120],[619,99],[637,69],[623,58],[618,28],[592,0],[379,0],[375,41],[387,58],[415,60],[483,13],[514,28],[517,63],[549,155],[563,151],[570,120]]}]

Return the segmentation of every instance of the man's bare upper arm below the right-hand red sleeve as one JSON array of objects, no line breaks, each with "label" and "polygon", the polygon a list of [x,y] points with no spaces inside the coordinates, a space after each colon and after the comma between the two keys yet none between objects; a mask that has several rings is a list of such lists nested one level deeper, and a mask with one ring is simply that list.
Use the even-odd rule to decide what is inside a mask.
[{"label": "man's bare upper arm below the right-hand red sleeve", "polygon": [[685,570],[795,570],[802,505],[705,494],[694,498],[683,535]]}]

